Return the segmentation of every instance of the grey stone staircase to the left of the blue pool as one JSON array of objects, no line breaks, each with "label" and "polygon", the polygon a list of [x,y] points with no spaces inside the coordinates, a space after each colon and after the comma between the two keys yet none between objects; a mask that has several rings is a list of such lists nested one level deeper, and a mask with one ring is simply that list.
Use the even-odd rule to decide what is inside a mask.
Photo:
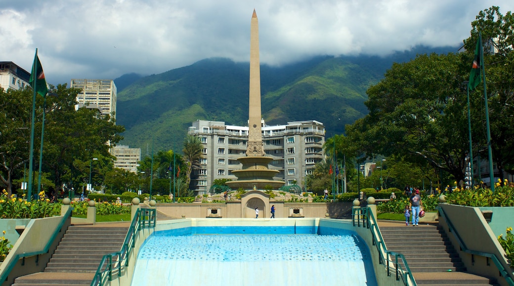
[{"label": "grey stone staircase to the left of the blue pool", "polygon": [[18,277],[13,286],[90,285],[102,257],[121,249],[127,231],[127,223],[70,226],[44,272]]}]

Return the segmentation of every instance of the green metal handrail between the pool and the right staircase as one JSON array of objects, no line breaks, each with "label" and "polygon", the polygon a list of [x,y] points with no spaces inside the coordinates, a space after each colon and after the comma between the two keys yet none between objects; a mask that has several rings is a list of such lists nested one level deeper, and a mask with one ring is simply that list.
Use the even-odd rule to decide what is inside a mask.
[{"label": "green metal handrail between the pool and the right staircase", "polygon": [[[357,213],[357,214],[356,214]],[[360,227],[360,218],[362,217],[362,227],[368,228],[371,231],[372,235],[372,243],[374,246],[376,246],[378,251],[378,262],[380,264],[386,265],[387,275],[391,276],[391,272],[394,270],[396,274],[396,280],[400,280],[400,277],[405,285],[413,285],[416,286],[416,281],[414,279],[414,276],[412,275],[412,272],[409,268],[409,264],[407,263],[407,260],[405,259],[405,256],[401,253],[397,253],[394,251],[387,250],[386,244],[383,242],[382,234],[380,233],[380,229],[378,228],[377,221],[375,219],[375,216],[373,215],[373,212],[369,207],[366,208],[355,208],[352,207],[352,222],[353,226],[355,227],[356,219],[355,216],[357,215],[357,225]],[[382,253],[385,253],[382,255]],[[392,257],[394,256],[394,261],[392,260]],[[391,259],[390,259],[391,258]],[[401,267],[401,264],[398,263],[401,261],[403,265],[405,266],[405,270]],[[394,267],[390,266],[389,264],[394,263]]]}]

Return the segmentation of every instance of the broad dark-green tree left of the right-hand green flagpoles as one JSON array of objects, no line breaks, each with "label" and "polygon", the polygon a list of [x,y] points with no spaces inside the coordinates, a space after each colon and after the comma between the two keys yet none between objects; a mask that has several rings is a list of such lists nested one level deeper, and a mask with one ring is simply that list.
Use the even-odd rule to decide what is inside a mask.
[{"label": "broad dark-green tree left of the right-hand green flagpoles", "polygon": [[422,160],[463,179],[469,141],[462,83],[470,58],[418,55],[394,64],[368,89],[370,113],[346,128],[348,137],[366,154]]}]

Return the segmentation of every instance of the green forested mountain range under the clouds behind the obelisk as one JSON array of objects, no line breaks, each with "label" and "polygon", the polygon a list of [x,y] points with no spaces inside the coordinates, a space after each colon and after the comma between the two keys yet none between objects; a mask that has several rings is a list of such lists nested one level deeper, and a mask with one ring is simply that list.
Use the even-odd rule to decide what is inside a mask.
[{"label": "green forested mountain range under the clouds behind the obelisk", "polygon": [[[316,56],[281,67],[261,65],[262,117],[267,125],[317,120],[327,136],[368,113],[366,90],[393,63],[417,54],[448,53],[455,47],[415,47],[389,56]],[[203,59],[161,74],[116,78],[117,124],[125,126],[120,145],[180,152],[188,127],[197,119],[246,126],[249,63]]]}]

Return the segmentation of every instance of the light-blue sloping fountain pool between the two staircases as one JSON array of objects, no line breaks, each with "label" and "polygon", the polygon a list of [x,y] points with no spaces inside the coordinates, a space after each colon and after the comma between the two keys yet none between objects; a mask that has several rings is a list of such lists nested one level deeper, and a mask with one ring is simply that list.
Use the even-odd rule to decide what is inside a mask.
[{"label": "light-blue sloping fountain pool between the two staircases", "polygon": [[132,285],[376,285],[364,242],[352,231],[337,232],[156,232],[139,252]]}]

